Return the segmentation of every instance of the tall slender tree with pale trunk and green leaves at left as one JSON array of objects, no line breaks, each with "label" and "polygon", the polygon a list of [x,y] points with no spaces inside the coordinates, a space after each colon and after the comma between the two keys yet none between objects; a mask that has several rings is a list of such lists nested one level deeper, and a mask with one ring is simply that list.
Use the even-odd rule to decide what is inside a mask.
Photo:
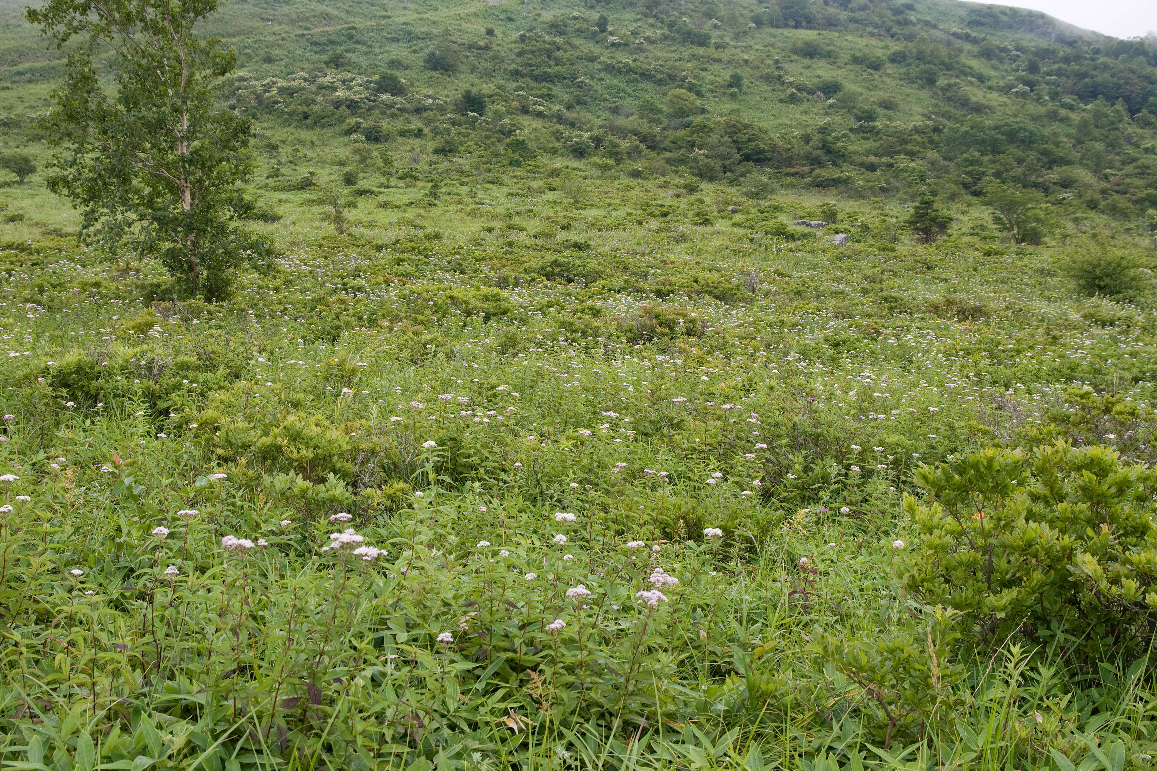
[{"label": "tall slender tree with pale trunk and green leaves at left", "polygon": [[[46,127],[49,186],[110,253],[155,254],[193,296],[220,297],[231,268],[265,246],[237,220],[255,168],[249,118],[213,96],[235,55],[194,25],[215,0],[53,0],[27,17],[58,46],[73,38]],[[111,49],[108,67],[97,54]]]}]

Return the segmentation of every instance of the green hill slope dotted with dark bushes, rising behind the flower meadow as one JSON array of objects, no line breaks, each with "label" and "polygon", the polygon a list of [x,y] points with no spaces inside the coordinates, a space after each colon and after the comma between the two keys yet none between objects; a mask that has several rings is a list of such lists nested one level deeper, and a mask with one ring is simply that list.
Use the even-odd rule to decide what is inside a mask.
[{"label": "green hill slope dotted with dark bushes, rising behind the flower meadow", "polygon": [[[312,132],[315,147],[390,147],[395,172],[417,153],[427,181],[578,160],[757,198],[788,186],[908,200],[931,186],[967,202],[996,180],[1038,193],[1061,221],[1136,224],[1157,207],[1157,49],[1143,40],[946,1],[525,12],[511,0],[238,2],[209,31],[238,52],[229,109]],[[35,147],[31,116],[60,54],[5,13],[3,142]],[[267,166],[304,173],[272,146]]]}]

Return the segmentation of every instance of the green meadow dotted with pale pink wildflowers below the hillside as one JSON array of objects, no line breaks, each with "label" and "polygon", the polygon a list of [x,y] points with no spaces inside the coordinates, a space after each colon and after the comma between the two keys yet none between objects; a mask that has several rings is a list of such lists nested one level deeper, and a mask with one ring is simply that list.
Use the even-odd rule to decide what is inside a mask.
[{"label": "green meadow dotted with pale pink wildflowers below the hillside", "polygon": [[478,233],[216,304],[5,252],[6,762],[1145,768],[1149,301],[722,229],[587,237],[742,302],[499,289]]}]

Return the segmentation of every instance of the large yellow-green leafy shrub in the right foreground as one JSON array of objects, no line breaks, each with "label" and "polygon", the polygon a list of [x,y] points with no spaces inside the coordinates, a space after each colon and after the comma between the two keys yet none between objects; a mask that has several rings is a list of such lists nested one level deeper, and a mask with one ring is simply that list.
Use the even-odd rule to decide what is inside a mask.
[{"label": "large yellow-green leafy shrub in the right foreground", "polygon": [[1012,636],[1088,655],[1143,653],[1157,622],[1157,484],[1112,448],[994,447],[922,466],[928,503],[904,585],[958,610],[978,646]]}]

